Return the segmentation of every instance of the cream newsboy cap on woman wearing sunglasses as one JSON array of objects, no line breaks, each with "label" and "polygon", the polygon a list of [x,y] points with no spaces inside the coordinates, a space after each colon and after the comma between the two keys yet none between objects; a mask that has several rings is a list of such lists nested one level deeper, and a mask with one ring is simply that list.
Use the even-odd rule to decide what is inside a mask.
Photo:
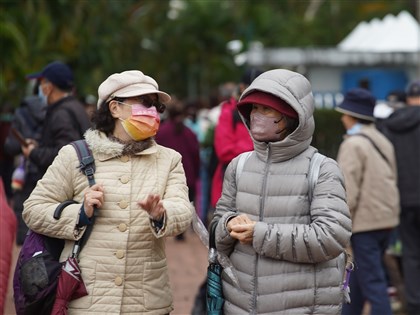
[{"label": "cream newsboy cap on woman wearing sunglasses", "polygon": [[110,75],[98,88],[97,107],[102,102],[114,97],[133,97],[145,94],[157,94],[159,101],[167,103],[171,97],[159,91],[157,82],[139,70],[129,70]]}]

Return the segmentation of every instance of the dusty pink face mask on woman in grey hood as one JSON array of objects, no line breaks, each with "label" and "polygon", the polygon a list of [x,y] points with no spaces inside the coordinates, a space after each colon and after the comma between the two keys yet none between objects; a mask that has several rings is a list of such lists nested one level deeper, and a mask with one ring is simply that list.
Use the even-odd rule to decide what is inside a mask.
[{"label": "dusty pink face mask on woman in grey hood", "polygon": [[259,112],[251,112],[251,134],[257,141],[280,141],[283,140],[282,133],[286,128],[279,129],[279,122],[283,120],[269,117]]}]

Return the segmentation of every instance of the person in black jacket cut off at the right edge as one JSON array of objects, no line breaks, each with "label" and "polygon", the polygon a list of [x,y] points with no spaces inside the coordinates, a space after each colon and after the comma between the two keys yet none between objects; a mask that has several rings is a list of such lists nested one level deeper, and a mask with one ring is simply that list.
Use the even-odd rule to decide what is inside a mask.
[{"label": "person in black jacket cut off at the right edge", "polygon": [[398,229],[402,242],[402,266],[406,311],[420,314],[420,80],[409,84],[406,106],[394,111],[380,125],[394,146],[400,192]]}]

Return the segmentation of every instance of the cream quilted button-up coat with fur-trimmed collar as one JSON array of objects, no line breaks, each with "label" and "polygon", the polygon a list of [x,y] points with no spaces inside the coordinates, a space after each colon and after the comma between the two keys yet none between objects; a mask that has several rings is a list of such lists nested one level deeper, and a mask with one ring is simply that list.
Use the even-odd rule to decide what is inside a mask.
[{"label": "cream quilted button-up coat with fur-trimmed collar", "polygon": [[[104,134],[89,130],[85,137],[105,202],[79,256],[89,294],[72,301],[68,314],[167,314],[173,304],[164,237],[185,231],[192,218],[181,155],[154,144],[135,156],[121,156],[122,145]],[[58,221],[53,212],[65,200],[82,202],[88,181],[78,165],[73,147],[63,147],[24,204],[29,228],[69,240],[62,260],[83,234],[76,229],[80,205],[66,207]],[[148,194],[159,194],[167,211],[158,234],[137,205]]]}]

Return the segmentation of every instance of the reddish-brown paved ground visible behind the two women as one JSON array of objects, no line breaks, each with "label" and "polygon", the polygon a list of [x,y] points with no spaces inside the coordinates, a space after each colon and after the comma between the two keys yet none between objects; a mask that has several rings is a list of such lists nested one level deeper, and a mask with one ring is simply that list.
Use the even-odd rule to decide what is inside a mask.
[{"label": "reddish-brown paved ground visible behind the two women", "polygon": [[[166,251],[175,307],[171,315],[191,314],[195,295],[206,275],[207,248],[192,230],[188,230],[184,241],[168,238]],[[13,266],[18,252],[19,249],[16,247],[13,253]],[[12,277],[13,273],[9,281],[4,315],[16,314],[12,300]]]}]

